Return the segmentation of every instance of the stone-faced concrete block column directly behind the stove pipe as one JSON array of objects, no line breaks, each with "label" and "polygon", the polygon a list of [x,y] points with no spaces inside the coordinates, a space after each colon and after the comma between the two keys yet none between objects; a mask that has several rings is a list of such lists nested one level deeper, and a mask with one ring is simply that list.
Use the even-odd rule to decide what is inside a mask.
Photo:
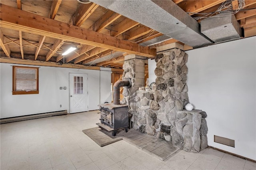
[{"label": "stone-faced concrete block column directly behind the stove pipe", "polygon": [[144,86],[144,59],[146,57],[142,57],[140,55],[129,54],[124,57],[124,73],[122,79],[130,78],[132,85],[129,89],[124,87],[123,95],[124,98],[122,100],[123,104],[129,105],[129,115],[133,115],[136,109],[135,105],[135,93],[139,87]]}]

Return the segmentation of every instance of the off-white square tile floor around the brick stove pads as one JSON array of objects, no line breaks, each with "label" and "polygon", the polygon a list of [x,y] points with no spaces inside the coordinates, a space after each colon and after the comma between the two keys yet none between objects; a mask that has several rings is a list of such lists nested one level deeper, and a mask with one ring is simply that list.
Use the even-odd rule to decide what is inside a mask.
[{"label": "off-white square tile floor around the brick stove pads", "polygon": [[256,170],[256,163],[213,149],[179,150],[164,161],[120,140],[100,147],[82,130],[98,111],[0,125],[1,170]]}]

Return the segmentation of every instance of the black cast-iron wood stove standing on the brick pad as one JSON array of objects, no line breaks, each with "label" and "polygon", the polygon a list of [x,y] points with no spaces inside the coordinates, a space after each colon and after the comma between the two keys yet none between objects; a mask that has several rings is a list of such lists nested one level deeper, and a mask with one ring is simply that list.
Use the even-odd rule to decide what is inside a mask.
[{"label": "black cast-iron wood stove standing on the brick pad", "polygon": [[100,128],[112,131],[112,135],[116,136],[116,131],[124,128],[128,131],[128,105],[114,105],[113,103],[100,104]]}]

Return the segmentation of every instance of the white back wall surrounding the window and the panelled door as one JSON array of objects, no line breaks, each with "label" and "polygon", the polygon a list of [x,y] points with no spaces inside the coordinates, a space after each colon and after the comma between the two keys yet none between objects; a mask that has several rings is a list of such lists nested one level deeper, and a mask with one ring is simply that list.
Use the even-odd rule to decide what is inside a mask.
[{"label": "white back wall surrounding the window and the panelled door", "polygon": [[[69,73],[88,74],[89,111],[99,109],[97,105],[100,104],[100,99],[106,99],[106,95],[110,93],[108,86],[111,71],[40,66],[39,94],[12,95],[12,65],[14,64],[0,63],[1,119],[61,110],[69,113]],[[104,79],[100,80],[100,74],[104,75]],[[60,90],[59,87],[67,89]],[[103,90],[100,92],[100,89]]]}]

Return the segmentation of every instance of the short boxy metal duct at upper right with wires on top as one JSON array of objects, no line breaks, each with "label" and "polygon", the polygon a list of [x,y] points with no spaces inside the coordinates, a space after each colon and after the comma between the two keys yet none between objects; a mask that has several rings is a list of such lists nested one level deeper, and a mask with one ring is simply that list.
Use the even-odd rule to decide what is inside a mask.
[{"label": "short boxy metal duct at upper right with wires on top", "polygon": [[236,17],[230,12],[223,12],[202,20],[201,32],[215,43],[239,39],[242,36]]}]

